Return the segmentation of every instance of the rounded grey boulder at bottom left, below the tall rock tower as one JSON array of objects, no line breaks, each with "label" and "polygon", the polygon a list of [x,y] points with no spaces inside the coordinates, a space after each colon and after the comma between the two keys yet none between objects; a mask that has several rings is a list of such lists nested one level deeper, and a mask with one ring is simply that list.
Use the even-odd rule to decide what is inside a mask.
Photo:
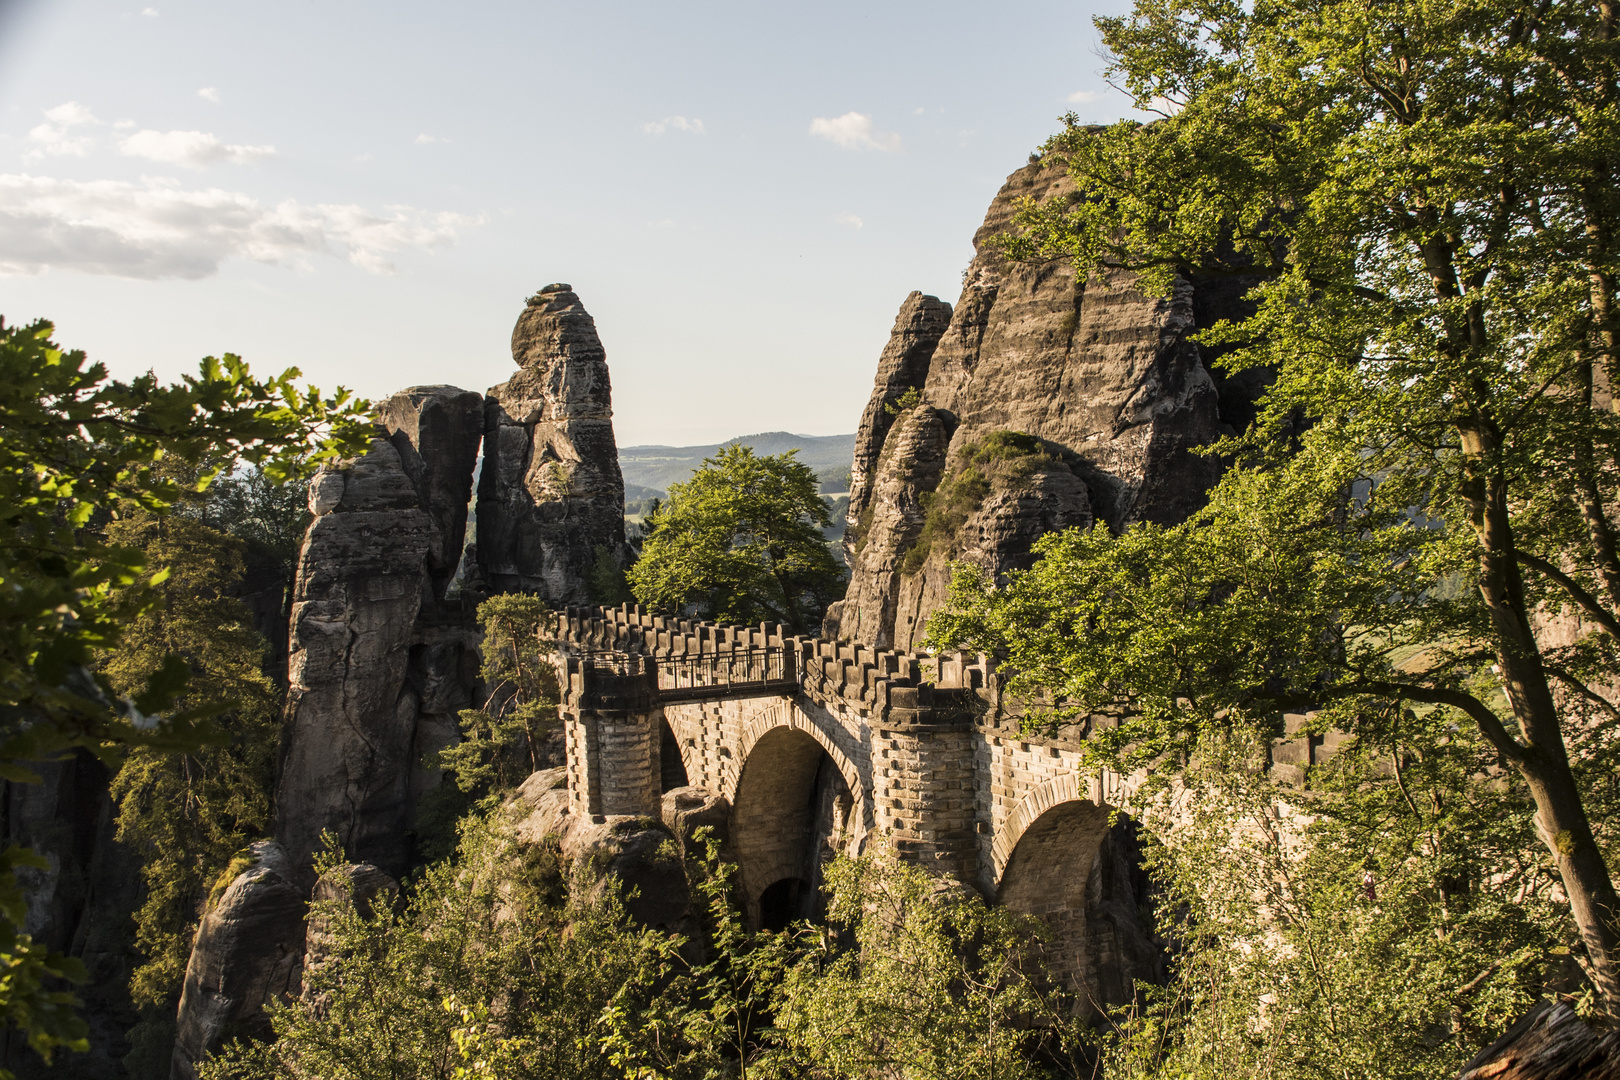
[{"label": "rounded grey boulder at bottom left, below the tall rock tower", "polygon": [[305,891],[279,844],[249,848],[254,865],[202,916],[180,996],[172,1080],[233,1038],[271,1038],[264,1006],[298,994]]}]

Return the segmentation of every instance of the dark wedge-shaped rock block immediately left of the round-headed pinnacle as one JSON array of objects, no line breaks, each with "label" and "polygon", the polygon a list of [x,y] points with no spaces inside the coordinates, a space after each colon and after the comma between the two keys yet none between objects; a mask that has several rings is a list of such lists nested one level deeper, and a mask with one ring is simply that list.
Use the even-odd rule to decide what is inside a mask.
[{"label": "dark wedge-shaped rock block immediately left of the round-headed pinnacle", "polygon": [[410,387],[384,402],[377,419],[399,450],[418,505],[433,521],[428,576],[434,599],[444,599],[467,539],[467,500],[484,439],[484,398],[460,387]]}]

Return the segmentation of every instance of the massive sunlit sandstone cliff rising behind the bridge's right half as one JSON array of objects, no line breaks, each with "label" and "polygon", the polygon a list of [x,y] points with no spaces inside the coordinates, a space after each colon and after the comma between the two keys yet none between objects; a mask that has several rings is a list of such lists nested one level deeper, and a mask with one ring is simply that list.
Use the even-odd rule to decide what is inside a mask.
[{"label": "massive sunlit sandstone cliff rising behind the bridge's right half", "polygon": [[[915,381],[925,363],[922,400],[948,440],[944,466],[936,471],[936,436],[925,440],[927,460],[917,463],[910,449],[888,447],[906,424],[883,432],[873,423],[868,436],[862,421],[854,473],[863,461],[876,466],[870,495],[857,502],[850,492],[850,533],[860,551],[850,552],[849,591],[829,612],[826,633],[899,649],[917,644],[948,586],[948,562],[938,551],[907,565],[923,531],[919,507],[930,483],[949,483],[967,466],[966,452],[987,436],[1035,436],[1055,458],[1021,478],[1000,484],[991,478],[990,495],[962,528],[953,554],[1004,573],[1027,565],[1029,544],[1050,528],[1094,518],[1115,529],[1186,518],[1220,473],[1218,461],[1191,450],[1252,416],[1260,381],[1218,384],[1187,340],[1196,327],[1238,314],[1241,287],[1181,283],[1170,300],[1158,300],[1124,274],[1079,282],[1068,261],[1011,264],[990,246],[1011,227],[1019,199],[1072,194],[1061,165],[1013,173],[974,238],[977,254],[962,295],[927,361],[927,334],[915,334],[909,351],[893,340],[885,350],[867,416],[881,413],[888,387]],[[927,322],[915,295],[901,321]],[[901,351],[904,363],[891,358]],[[886,376],[891,368],[904,368],[904,379]]]}]

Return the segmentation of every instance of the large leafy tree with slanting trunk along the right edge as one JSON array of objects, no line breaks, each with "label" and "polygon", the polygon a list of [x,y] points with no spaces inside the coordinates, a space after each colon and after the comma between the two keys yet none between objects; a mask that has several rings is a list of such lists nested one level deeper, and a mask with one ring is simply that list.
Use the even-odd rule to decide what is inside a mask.
[{"label": "large leafy tree with slanting trunk along the right edge", "polygon": [[1118,711],[1100,750],[1136,761],[1285,709],[1474,724],[1620,1012],[1588,810],[1620,717],[1614,3],[1140,0],[1098,28],[1163,118],[1071,117],[1047,154],[1081,196],[1025,206],[1009,253],[1160,295],[1256,275],[1204,340],[1275,382],[1192,521],[1048,538],[1004,591],[966,570],[935,644]]}]

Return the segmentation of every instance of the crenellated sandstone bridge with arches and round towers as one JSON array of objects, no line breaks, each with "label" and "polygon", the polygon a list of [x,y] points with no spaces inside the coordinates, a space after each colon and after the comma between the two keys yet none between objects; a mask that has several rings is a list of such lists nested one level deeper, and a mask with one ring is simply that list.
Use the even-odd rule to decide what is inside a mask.
[{"label": "crenellated sandstone bridge with arches and round towers", "polygon": [[1021,735],[977,659],[633,606],[567,609],[557,646],[570,813],[726,800],[753,923],[813,916],[823,865],[885,842],[1042,916],[1051,968],[1092,1002],[1162,978],[1134,829],[1110,824],[1128,780],[1081,771],[1084,730]]}]

